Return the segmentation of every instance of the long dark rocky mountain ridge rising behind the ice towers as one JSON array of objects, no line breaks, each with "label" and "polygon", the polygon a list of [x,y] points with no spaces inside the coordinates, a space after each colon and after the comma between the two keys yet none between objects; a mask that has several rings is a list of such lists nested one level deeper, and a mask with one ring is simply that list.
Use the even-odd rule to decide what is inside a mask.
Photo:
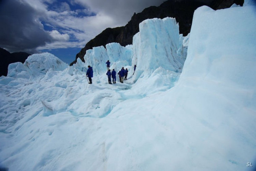
[{"label": "long dark rocky mountain ridge rising behind the ice towers", "polygon": [[[181,2],[175,2],[173,0],[167,0],[159,7],[151,6],[144,9],[141,13],[134,13],[131,21],[123,27],[114,29],[107,28],[102,31],[101,34],[89,41],[81,51],[76,54],[76,60],[79,57],[84,61],[84,55],[86,50],[93,47],[104,46],[108,43],[117,42],[122,46],[132,44],[133,36],[139,31],[139,23],[149,18],[176,18],[179,23],[180,34],[186,36],[191,29],[193,13],[194,11],[203,5],[208,5],[214,10],[229,8],[232,4],[243,5],[244,0],[213,0],[212,3],[205,4],[193,0],[183,0]],[[76,60],[71,63],[73,65]]]}]

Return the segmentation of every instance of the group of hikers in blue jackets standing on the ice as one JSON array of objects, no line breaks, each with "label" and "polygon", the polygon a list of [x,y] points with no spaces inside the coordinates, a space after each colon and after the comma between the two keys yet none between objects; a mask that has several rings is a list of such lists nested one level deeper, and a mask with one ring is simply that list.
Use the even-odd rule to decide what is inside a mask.
[{"label": "group of hikers in blue jackets standing on the ice", "polygon": [[[107,64],[107,73],[106,73],[106,75],[107,75],[107,78],[108,78],[108,83],[112,84],[111,83],[111,78],[112,78],[113,84],[115,84],[116,83],[115,69],[113,69],[112,72],[111,72],[111,70],[110,70],[110,61],[109,60],[107,60],[106,64]],[[134,65],[134,72],[135,72],[135,70],[136,70],[136,65]],[[134,74],[134,72],[133,72],[133,74]],[[124,67],[122,67],[122,69],[118,72],[118,75],[119,75],[120,82],[123,83],[123,80],[127,80],[128,69],[127,68],[124,69]],[[90,65],[88,65],[88,70],[86,72],[86,77],[89,78],[88,83],[92,84],[91,78],[93,77],[93,70],[92,70],[92,67]]]}]

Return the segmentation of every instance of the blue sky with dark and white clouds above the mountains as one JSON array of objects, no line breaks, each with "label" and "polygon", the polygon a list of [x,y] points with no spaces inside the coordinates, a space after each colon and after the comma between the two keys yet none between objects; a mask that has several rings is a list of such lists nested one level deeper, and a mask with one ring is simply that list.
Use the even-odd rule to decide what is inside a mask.
[{"label": "blue sky with dark and white clouds above the mountains", "polygon": [[165,0],[0,0],[0,47],[50,52],[70,64],[106,28],[125,26],[133,13]]}]

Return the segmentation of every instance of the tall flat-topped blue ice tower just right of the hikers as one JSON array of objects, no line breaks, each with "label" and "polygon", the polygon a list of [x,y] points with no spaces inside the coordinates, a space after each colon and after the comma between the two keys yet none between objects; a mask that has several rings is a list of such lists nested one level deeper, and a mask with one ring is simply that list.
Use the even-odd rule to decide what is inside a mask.
[{"label": "tall flat-topped blue ice tower just right of the hikers", "polygon": [[153,18],[139,24],[139,32],[133,37],[132,63],[137,65],[136,70],[151,75],[162,67],[180,73],[185,61],[183,53],[183,36],[175,18]]}]

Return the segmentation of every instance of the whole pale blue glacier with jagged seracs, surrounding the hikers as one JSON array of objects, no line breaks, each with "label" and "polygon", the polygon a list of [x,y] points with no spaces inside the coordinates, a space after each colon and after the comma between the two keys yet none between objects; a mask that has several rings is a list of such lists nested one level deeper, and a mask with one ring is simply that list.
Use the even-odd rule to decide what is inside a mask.
[{"label": "whole pale blue glacier with jagged seracs, surrounding the hikers", "polygon": [[[186,37],[175,18],[154,18],[132,45],[94,47],[85,63],[43,53],[9,65],[0,78],[0,170],[253,171],[252,2],[198,8]],[[128,80],[109,85],[107,60],[111,70],[128,68]]]}]

